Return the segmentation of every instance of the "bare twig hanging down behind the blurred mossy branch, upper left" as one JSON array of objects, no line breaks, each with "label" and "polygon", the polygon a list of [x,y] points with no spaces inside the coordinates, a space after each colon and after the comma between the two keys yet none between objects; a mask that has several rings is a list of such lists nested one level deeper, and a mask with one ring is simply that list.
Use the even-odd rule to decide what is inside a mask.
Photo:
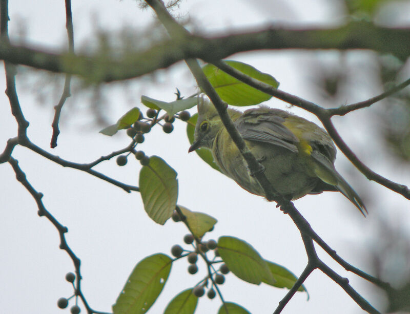
[{"label": "bare twig hanging down behind the blurred mossy branch, upper left", "polygon": [[[73,16],[71,12],[71,0],[66,0],[66,29],[68,36],[68,51],[69,53],[74,54],[74,28],[73,28]],[[60,134],[58,128],[58,122],[60,119],[61,110],[63,109],[66,99],[70,97],[70,83],[71,83],[71,74],[66,74],[66,79],[64,82],[63,94],[61,94],[60,100],[58,101],[57,106],[54,107],[55,114],[53,123],[51,127],[53,129],[53,135],[51,136],[50,147],[55,148],[57,146],[57,137]]]}]

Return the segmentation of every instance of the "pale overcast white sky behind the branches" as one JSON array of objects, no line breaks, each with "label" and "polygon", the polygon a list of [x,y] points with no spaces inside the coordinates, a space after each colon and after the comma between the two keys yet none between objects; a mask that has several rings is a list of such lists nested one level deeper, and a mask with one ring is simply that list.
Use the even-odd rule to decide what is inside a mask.
[{"label": "pale overcast white sky behind the branches", "polygon": [[[9,11],[10,37],[14,43],[53,51],[66,47],[63,1],[14,0],[9,4]],[[143,33],[154,19],[151,10],[141,10],[131,0],[73,0],[72,11],[75,47],[79,51],[93,49],[98,44],[95,39],[98,32],[113,34],[128,29],[138,43],[138,40],[145,40]],[[338,4],[314,0],[304,1],[303,4],[296,0],[258,0],[252,3],[238,0],[182,1],[180,16],[189,18],[190,29],[198,29],[205,34],[257,29],[268,24],[334,26],[345,18]],[[357,61],[357,57],[363,55],[370,56],[368,63]],[[317,52],[263,51],[241,53],[231,59],[247,62],[272,74],[283,91],[320,101],[322,98],[306,83],[313,75],[308,73],[310,62],[317,56]],[[335,52],[326,52],[321,57],[334,60],[337,56]],[[362,67],[365,71],[373,66],[371,53],[352,52],[345,57],[352,68]],[[409,67],[407,72],[410,72]],[[355,80],[347,86],[351,92],[346,94],[343,102],[353,103],[380,93],[378,83],[368,80],[368,76],[359,71]],[[127,81],[126,86],[121,83],[105,85],[100,98],[97,93],[80,90],[78,86],[78,80],[74,80],[73,96],[65,104],[61,117],[58,146],[52,150],[49,148],[50,125],[53,106],[63,90],[63,80],[60,76],[46,76],[41,71],[18,70],[17,92],[26,119],[30,122],[29,138],[52,154],[81,163],[91,162],[129,144],[125,132],[113,137],[98,133],[108,124],[96,122],[98,117],[90,109],[93,106],[102,108],[106,123],[114,123],[134,106],[146,110],[139,102],[141,95],[171,101],[176,88],[182,95],[196,92],[196,83],[183,62],[167,70],[156,71],[153,75]],[[5,89],[4,75],[0,75],[1,87]],[[0,104],[0,143],[5,145],[7,139],[16,135],[16,123],[4,93],[0,94]],[[267,104],[318,122],[313,115],[289,108],[279,100],[271,99]],[[340,104],[334,103],[333,106]],[[374,107],[335,119],[334,123],[353,151],[374,171],[393,181],[409,184],[408,168],[403,168],[404,165],[394,160],[377,141],[375,119],[369,118],[377,115]],[[171,134],[156,128],[147,134],[146,141],[140,147],[147,155],[165,159],[176,170],[179,204],[218,220],[206,240],[223,235],[238,237],[252,244],[263,258],[287,267],[296,275],[300,274],[306,264],[305,250],[290,218],[283,215],[274,203],[241,190],[234,181],[212,170],[194,153],[188,154],[185,123],[177,121],[174,127]],[[34,188],[44,194],[43,202],[47,210],[68,227],[68,244],[81,259],[83,293],[89,305],[96,310],[111,311],[138,261],[155,253],[170,255],[171,246],[177,243],[182,245],[182,238],[188,233],[181,223],[170,220],[161,226],[153,222],[146,215],[138,193],[125,193],[114,185],[87,173],[63,168],[20,146],[15,148],[13,156]],[[115,160],[111,160],[98,165],[96,170],[137,185],[140,165],[136,160],[129,159],[124,167],[117,166]],[[364,219],[340,193],[306,196],[295,201],[295,205],[313,229],[341,257],[372,273],[372,252],[377,252],[377,243],[382,243],[380,241],[385,235],[382,222],[399,226],[406,234],[405,230],[410,227],[408,201],[375,182],[367,181],[340,152],[336,168],[359,194],[366,195],[364,201],[370,212],[367,218]],[[60,297],[72,295],[72,287],[65,281],[65,274],[74,271],[72,261],[66,252],[58,248],[59,237],[54,226],[46,218],[38,217],[34,200],[15,180],[11,166],[1,164],[0,171],[0,197],[3,200],[0,220],[2,310],[5,313],[68,313],[69,309],[58,309],[56,302]],[[380,308],[383,296],[377,290],[357,276],[343,271],[320,249],[318,254],[340,275],[346,276],[364,298]],[[199,272],[195,276],[187,273],[187,267],[185,260],[174,263],[162,294],[149,312],[162,312],[179,291],[193,287],[206,274],[205,264],[198,263]],[[393,275],[403,277],[400,271]],[[306,294],[297,293],[283,313],[363,312],[320,271],[314,271],[305,286],[309,291],[309,301]],[[237,302],[250,312],[260,314],[273,312],[286,293],[284,289],[242,282],[232,274],[227,276],[226,283],[220,288],[225,300]],[[199,300],[197,313],[216,313],[219,306],[217,298],[211,301],[203,297]],[[82,312],[85,312],[83,307]]]}]

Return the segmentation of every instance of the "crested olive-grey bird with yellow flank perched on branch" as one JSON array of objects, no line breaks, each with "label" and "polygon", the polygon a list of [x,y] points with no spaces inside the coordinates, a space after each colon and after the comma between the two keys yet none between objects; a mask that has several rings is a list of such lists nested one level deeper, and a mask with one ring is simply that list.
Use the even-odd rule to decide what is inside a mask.
[{"label": "crested olive-grey bird with yellow flank perched on branch", "polygon": [[[304,118],[266,106],[243,113],[229,108],[228,113],[278,194],[295,200],[306,194],[339,191],[363,215],[367,213],[360,197],[336,171],[336,148],[325,130]],[[224,175],[250,193],[265,196],[207,98],[199,98],[195,139],[189,152],[201,147],[212,152]]]}]

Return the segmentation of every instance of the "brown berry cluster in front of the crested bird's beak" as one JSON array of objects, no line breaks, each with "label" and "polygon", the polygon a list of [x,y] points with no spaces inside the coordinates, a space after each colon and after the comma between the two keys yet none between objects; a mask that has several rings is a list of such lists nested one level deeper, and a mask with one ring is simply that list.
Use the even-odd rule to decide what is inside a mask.
[{"label": "brown berry cluster in front of the crested bird's beak", "polygon": [[[182,121],[188,121],[191,117],[191,114],[186,110],[181,111],[177,115],[174,115],[172,117],[170,117],[168,114],[162,117],[158,117],[158,114],[159,111],[150,108],[146,112],[147,118],[144,118],[141,113],[139,120],[127,129],[127,135],[131,137],[135,143],[135,145],[133,146],[134,148],[137,144],[141,144],[145,141],[144,134],[149,133],[155,124],[162,125],[163,132],[171,133],[174,130],[174,125],[172,123],[175,121],[176,117]],[[164,121],[163,124],[161,124],[161,121]],[[131,153],[135,155],[135,158],[139,160],[141,165],[144,166],[149,164],[150,158],[143,151],[132,150]],[[116,160],[117,165],[125,166],[127,164],[127,158],[129,154],[130,153],[128,153],[127,155],[118,156]]]}]

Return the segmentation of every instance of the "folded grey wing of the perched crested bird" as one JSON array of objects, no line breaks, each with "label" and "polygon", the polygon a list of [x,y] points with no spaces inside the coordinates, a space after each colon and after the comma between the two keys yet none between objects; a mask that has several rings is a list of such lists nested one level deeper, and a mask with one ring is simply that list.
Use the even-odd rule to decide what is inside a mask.
[{"label": "folded grey wing of the perched crested bird", "polygon": [[278,145],[297,153],[299,139],[283,125],[285,115],[289,114],[282,110],[250,109],[235,124],[245,140]]}]

